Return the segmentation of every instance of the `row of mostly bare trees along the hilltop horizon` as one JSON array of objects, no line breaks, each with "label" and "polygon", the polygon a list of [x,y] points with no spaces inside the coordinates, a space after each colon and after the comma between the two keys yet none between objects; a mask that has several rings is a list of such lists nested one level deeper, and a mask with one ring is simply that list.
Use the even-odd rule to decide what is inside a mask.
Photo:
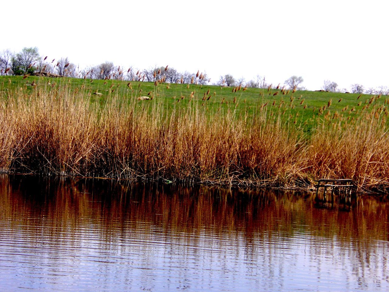
[{"label": "row of mostly bare trees along the hilltop horizon", "polygon": [[[112,62],[103,62],[96,66],[89,66],[80,69],[79,66],[68,60],[68,57],[61,57],[59,60],[49,60],[47,56],[40,56],[37,47],[24,47],[20,52],[14,53],[4,49],[0,53],[0,75],[26,75],[34,73],[51,73],[65,77],[88,78],[88,79],[113,79],[128,81],[155,82],[164,80],[167,83],[197,83],[209,84],[210,79],[206,72],[191,73],[188,71],[179,72],[173,67],[151,67],[149,69],[135,69],[132,66],[124,69],[123,66],[116,66]],[[284,87],[294,90],[306,90],[301,86],[304,79],[301,76],[291,76],[284,82]],[[268,83],[265,76],[257,75],[255,79],[246,81],[244,77],[235,79],[231,74],[221,75],[219,80],[212,85],[220,86],[246,86],[252,88],[280,88],[278,85]],[[277,86],[277,87],[276,87]],[[350,90],[338,88],[334,81],[324,80],[321,90],[330,92],[351,92],[388,95],[389,88],[380,86],[378,88],[364,88],[362,84],[351,84]]]}]

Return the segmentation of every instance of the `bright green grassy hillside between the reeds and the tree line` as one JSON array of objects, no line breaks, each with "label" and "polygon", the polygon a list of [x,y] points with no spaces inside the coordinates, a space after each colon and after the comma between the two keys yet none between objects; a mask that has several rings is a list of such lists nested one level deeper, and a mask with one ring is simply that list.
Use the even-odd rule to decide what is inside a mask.
[{"label": "bright green grassy hillside between the reeds and the tree line", "polygon": [[[27,84],[36,84],[29,86]],[[387,96],[376,96],[353,93],[333,93],[325,91],[282,91],[268,88],[221,87],[196,84],[168,84],[150,82],[129,82],[118,80],[90,80],[75,78],[48,78],[28,76],[0,76],[0,91],[4,96],[11,96],[16,90],[32,92],[39,87],[67,86],[68,90],[80,91],[91,101],[104,102],[113,95],[123,99],[138,99],[149,96],[152,99],[163,99],[166,108],[185,107],[191,101],[199,106],[207,107],[209,111],[228,111],[233,109],[237,116],[267,110],[280,112],[284,117],[298,125],[307,128],[314,127],[322,118],[343,117],[344,119],[358,116],[369,111],[373,105],[382,106],[389,100]],[[98,92],[101,95],[93,93]]]}]

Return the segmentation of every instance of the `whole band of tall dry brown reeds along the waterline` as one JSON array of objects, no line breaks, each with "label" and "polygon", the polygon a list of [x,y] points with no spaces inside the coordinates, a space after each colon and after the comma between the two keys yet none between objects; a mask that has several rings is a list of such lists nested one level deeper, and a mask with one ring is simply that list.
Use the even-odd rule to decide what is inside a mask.
[{"label": "whole band of tall dry brown reeds along the waterline", "polygon": [[327,116],[308,137],[263,107],[247,118],[235,115],[236,105],[211,114],[196,101],[167,111],[161,97],[111,95],[101,105],[67,86],[25,92],[1,97],[4,172],[255,186],[344,177],[367,189],[389,185],[382,114],[349,122]]}]

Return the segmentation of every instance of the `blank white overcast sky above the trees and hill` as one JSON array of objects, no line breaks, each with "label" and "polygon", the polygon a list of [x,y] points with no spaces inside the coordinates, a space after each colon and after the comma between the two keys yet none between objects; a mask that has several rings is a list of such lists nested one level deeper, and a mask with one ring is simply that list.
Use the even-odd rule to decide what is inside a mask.
[{"label": "blank white overcast sky above the trees and hill", "polygon": [[[154,65],[278,84],[302,76],[320,89],[389,86],[389,2],[7,1],[0,51],[38,47],[80,67]],[[4,13],[7,11],[7,13]]]}]

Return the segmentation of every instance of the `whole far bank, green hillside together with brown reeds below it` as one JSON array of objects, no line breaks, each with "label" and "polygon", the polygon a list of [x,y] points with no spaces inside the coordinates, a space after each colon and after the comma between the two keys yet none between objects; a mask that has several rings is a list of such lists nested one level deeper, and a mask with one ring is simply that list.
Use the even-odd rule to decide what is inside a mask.
[{"label": "whole far bank, green hillside together with brown reeds below it", "polygon": [[387,96],[0,76],[0,102],[4,172],[389,186]]}]

